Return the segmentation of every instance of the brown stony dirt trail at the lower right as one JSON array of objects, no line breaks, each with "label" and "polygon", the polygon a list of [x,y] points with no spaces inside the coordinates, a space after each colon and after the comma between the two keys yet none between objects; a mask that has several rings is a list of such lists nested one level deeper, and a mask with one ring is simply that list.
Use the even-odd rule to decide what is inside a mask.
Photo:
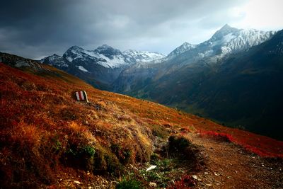
[{"label": "brown stony dirt trail at the lower right", "polygon": [[197,173],[196,188],[283,188],[282,161],[248,154],[243,148],[211,138],[189,134],[204,147],[207,168]]}]

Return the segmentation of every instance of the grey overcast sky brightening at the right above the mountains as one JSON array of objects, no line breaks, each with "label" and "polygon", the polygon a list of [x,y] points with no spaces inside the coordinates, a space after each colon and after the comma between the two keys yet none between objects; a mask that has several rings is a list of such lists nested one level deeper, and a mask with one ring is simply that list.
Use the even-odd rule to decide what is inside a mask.
[{"label": "grey overcast sky brightening at the right above the mountains", "polygon": [[282,0],[8,0],[1,1],[0,51],[38,59],[72,45],[94,50],[168,54],[198,44],[228,23],[283,29]]}]

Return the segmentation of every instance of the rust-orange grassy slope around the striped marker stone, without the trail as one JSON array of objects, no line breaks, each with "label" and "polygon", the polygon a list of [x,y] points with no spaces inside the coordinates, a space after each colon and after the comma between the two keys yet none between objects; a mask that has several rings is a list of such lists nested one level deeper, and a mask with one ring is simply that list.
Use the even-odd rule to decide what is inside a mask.
[{"label": "rust-orange grassy slope around the striped marker stone, without the trail", "polygon": [[[57,76],[37,76],[0,63],[0,182],[4,187],[56,185],[59,178],[71,176],[81,176],[84,182],[98,174],[119,176],[126,165],[149,161],[154,134],[174,134],[184,128],[225,132],[263,155],[283,155],[283,142],[100,91],[63,71],[45,68]],[[87,91],[91,103],[74,101],[71,93],[77,90]]]}]

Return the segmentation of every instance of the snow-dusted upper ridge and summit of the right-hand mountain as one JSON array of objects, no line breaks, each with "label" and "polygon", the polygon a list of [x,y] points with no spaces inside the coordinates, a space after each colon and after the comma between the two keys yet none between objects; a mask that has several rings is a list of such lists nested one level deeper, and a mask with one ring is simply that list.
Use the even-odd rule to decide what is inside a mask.
[{"label": "snow-dusted upper ridge and summit of the right-hand mountain", "polygon": [[172,64],[175,69],[201,60],[206,64],[214,64],[233,53],[248,50],[269,40],[275,33],[275,31],[237,29],[226,24],[217,30],[212,38],[199,45],[191,45],[187,42],[180,45],[164,59],[163,63]]}]

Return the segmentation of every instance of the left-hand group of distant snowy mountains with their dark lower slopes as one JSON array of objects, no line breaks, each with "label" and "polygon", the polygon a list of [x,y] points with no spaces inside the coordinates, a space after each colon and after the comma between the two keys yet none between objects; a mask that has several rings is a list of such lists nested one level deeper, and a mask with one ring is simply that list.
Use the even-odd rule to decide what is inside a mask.
[{"label": "left-hand group of distant snowy mountains with their dark lower slopes", "polygon": [[97,88],[111,90],[110,85],[122,70],[137,62],[151,62],[165,57],[159,52],[127,50],[121,52],[108,45],[96,50],[70,47],[64,55],[51,55],[40,62],[78,76]]}]

